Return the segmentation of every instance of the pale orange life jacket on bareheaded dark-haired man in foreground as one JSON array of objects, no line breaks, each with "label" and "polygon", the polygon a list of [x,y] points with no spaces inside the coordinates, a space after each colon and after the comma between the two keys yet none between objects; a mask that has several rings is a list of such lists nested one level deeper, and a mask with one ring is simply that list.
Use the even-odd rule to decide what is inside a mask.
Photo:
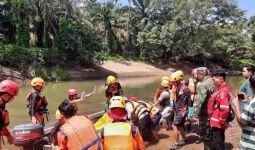
[{"label": "pale orange life jacket on bareheaded dark-haired man in foreground", "polygon": [[73,116],[65,122],[60,130],[67,136],[69,150],[99,150],[101,143],[93,123],[84,116]]}]

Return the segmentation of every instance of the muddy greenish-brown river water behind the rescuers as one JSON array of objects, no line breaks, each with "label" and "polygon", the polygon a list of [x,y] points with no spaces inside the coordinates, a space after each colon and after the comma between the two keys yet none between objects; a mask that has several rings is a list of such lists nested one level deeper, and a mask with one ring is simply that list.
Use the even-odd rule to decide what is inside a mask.
[{"label": "muddy greenish-brown river water behind the rescuers", "polygon": [[[160,85],[160,78],[160,76],[119,78],[119,82],[121,83],[125,96],[137,96],[142,100],[152,102],[154,92]],[[242,82],[244,82],[244,78],[241,76],[230,76],[227,77],[226,81],[229,83],[233,91],[234,89],[239,89]],[[86,101],[78,104],[78,113],[92,114],[94,112],[102,111],[104,109],[104,83],[105,80],[46,83],[42,95],[46,96],[49,103],[49,122],[55,121],[55,111],[58,108],[58,105],[65,99],[66,91],[69,88],[76,88],[79,90],[79,93],[81,91],[89,93],[92,92],[94,86],[96,86],[96,93]],[[30,91],[31,86],[22,86],[19,96],[16,97],[12,103],[7,105],[6,108],[10,113],[11,119],[9,128],[13,128],[17,124],[29,122],[29,117],[26,110],[26,96]]]}]

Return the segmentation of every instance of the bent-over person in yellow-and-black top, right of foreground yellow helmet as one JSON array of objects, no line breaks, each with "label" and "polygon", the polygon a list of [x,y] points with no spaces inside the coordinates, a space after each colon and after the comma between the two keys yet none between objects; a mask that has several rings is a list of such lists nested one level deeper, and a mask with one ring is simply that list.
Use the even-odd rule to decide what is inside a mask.
[{"label": "bent-over person in yellow-and-black top, right of foreground yellow helmet", "polygon": [[149,140],[150,137],[154,135],[152,133],[154,131],[148,109],[144,105],[138,103],[137,97],[130,97],[126,102],[126,110],[129,114],[129,119],[138,126],[143,140]]}]

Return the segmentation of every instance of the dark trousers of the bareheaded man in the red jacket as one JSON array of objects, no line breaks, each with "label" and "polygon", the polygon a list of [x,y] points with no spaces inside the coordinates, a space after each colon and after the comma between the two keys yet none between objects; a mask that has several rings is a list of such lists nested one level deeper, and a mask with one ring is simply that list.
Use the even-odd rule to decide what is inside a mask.
[{"label": "dark trousers of the bareheaded man in the red jacket", "polygon": [[212,127],[212,150],[225,150],[225,129]]}]

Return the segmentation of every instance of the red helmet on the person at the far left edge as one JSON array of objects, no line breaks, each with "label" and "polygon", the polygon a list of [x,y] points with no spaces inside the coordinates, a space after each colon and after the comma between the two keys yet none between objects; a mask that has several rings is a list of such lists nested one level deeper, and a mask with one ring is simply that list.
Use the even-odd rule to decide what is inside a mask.
[{"label": "red helmet on the person at the far left edge", "polygon": [[4,80],[0,83],[0,92],[7,93],[11,96],[17,96],[19,93],[19,86],[11,80]]}]

